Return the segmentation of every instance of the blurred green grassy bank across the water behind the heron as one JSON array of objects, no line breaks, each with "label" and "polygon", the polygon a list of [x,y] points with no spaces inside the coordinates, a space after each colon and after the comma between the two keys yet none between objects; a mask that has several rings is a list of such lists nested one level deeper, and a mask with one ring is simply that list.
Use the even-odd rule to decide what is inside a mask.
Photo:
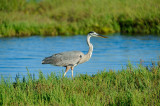
[{"label": "blurred green grassy bank across the water behind the heron", "polygon": [[160,34],[159,0],[0,0],[0,36]]}]

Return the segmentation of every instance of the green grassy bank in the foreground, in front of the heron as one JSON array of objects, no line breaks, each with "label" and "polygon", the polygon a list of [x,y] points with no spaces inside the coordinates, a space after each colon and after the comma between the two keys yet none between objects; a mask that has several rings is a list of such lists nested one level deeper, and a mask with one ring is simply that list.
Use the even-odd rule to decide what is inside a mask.
[{"label": "green grassy bank in the foreground, in front of the heron", "polygon": [[0,105],[160,105],[160,65],[139,66],[96,75],[77,75],[74,80],[40,72],[23,80],[1,79]]}]

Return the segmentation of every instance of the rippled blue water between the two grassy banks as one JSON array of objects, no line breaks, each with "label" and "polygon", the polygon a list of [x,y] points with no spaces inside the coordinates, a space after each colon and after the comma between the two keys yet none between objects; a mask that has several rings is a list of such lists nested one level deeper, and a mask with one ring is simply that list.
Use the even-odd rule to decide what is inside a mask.
[{"label": "rippled blue water between the two grassy banks", "polygon": [[[106,69],[120,70],[130,61],[134,66],[140,63],[151,65],[160,56],[160,37],[155,36],[122,36],[115,34],[107,39],[91,38],[94,46],[91,59],[74,69],[77,74],[96,74]],[[87,53],[86,36],[72,37],[26,37],[0,38],[0,74],[5,78],[27,75],[27,69],[36,76],[41,70],[45,75],[64,71],[64,67],[41,64],[44,57],[52,54],[79,50]],[[71,76],[71,71],[67,73]]]}]

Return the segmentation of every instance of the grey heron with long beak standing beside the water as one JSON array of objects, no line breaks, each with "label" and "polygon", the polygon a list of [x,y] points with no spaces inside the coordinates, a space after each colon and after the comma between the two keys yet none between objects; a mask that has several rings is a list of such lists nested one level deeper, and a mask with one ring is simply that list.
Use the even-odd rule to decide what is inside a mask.
[{"label": "grey heron with long beak standing beside the water", "polygon": [[90,38],[92,36],[107,38],[107,37],[97,34],[94,31],[91,31],[87,35],[87,44],[89,46],[89,50],[87,54],[83,54],[81,51],[67,51],[67,52],[57,53],[57,54],[54,54],[50,57],[46,57],[45,59],[43,59],[42,64],[52,64],[55,66],[66,67],[64,76],[66,75],[67,71],[71,69],[72,77],[73,77],[74,67],[78,64],[88,61],[92,56],[93,45],[90,43]]}]

